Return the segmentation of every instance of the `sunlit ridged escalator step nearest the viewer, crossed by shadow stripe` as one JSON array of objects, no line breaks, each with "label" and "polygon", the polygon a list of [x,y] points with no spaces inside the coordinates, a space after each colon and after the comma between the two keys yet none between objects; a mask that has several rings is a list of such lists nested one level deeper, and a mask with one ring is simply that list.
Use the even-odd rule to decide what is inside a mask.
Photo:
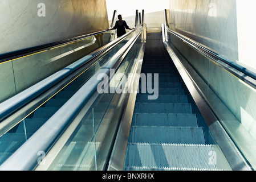
[{"label": "sunlit ridged escalator step nearest the viewer, crossed by shadow stripe", "polygon": [[229,169],[215,145],[129,143],[127,152],[127,167]]}]

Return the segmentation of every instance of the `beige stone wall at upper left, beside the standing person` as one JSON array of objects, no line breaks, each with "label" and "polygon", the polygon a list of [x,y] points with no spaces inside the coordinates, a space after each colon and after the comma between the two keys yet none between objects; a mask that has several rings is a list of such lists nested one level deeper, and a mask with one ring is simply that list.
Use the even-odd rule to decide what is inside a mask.
[{"label": "beige stone wall at upper left, beside the standing person", "polygon": [[1,0],[0,16],[0,54],[108,28],[105,0]]}]

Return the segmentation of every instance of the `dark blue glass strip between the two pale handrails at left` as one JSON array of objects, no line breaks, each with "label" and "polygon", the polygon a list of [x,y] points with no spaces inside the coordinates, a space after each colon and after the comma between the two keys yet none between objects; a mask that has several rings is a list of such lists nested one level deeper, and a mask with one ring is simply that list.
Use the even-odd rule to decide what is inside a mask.
[{"label": "dark blue glass strip between the two pale handrails at left", "polygon": [[[35,132],[38,130],[47,120],[62,107],[78,90],[83,86],[83,84],[88,81],[100,68],[104,66],[105,63],[111,57],[115,55],[121,47],[124,46],[126,41],[122,41],[117,46],[110,51],[106,52],[103,57],[101,57],[95,64],[86,69],[81,75],[71,80],[66,86],[61,90],[56,90],[56,94],[50,98],[47,102],[42,104],[36,110],[32,111],[25,119],[20,121],[16,126],[14,126],[5,135],[0,137],[0,165],[5,162],[7,158],[13,152],[15,152],[23,143],[26,142]],[[66,47],[68,49],[68,47]],[[53,49],[54,50],[54,49]],[[52,51],[53,51],[52,50]],[[55,49],[56,51],[57,49]],[[101,106],[101,105],[99,105]],[[97,110],[97,105],[95,106],[95,111]],[[91,115],[89,115],[91,118]],[[95,116],[97,119],[97,115]],[[97,121],[97,120],[95,120]],[[96,123],[97,129],[98,123]],[[92,126],[90,124],[90,126]],[[90,145],[88,146],[90,147]]]}]

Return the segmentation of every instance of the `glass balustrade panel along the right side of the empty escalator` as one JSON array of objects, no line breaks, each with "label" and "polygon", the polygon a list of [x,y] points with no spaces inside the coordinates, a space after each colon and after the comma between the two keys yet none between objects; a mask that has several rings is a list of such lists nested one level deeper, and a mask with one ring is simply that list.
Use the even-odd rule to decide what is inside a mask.
[{"label": "glass balustrade panel along the right side of the empty escalator", "polygon": [[204,93],[222,126],[256,168],[256,89],[176,36],[169,33],[168,38],[169,46]]}]

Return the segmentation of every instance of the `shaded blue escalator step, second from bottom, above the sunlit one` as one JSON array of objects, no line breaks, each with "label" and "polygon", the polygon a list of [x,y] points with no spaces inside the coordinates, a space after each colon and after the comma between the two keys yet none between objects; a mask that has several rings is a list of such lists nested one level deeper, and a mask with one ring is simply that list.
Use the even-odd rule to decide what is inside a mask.
[{"label": "shaded blue escalator step, second from bottom, above the sunlit one", "polygon": [[205,144],[202,127],[133,126],[131,129],[130,142]]}]

